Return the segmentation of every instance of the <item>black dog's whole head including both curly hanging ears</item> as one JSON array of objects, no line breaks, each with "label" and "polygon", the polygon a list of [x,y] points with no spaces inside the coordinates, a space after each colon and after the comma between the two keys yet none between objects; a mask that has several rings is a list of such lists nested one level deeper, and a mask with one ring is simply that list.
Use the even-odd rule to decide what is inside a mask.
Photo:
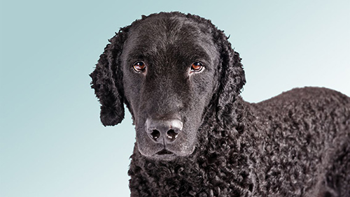
[{"label": "black dog's whole head including both curly hanging ears", "polygon": [[120,29],[92,77],[104,126],[132,114],[144,156],[193,153],[204,117],[232,126],[232,103],[245,83],[239,54],[209,20],[181,13],[142,17]]}]

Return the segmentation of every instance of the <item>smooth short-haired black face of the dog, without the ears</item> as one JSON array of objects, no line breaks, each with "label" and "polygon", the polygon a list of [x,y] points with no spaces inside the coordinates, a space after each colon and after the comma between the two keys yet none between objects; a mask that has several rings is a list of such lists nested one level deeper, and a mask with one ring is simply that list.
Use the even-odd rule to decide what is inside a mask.
[{"label": "smooth short-haired black face of the dog, without the ears", "polygon": [[186,18],[148,18],[131,27],[121,64],[139,152],[188,156],[218,81],[213,36]]}]

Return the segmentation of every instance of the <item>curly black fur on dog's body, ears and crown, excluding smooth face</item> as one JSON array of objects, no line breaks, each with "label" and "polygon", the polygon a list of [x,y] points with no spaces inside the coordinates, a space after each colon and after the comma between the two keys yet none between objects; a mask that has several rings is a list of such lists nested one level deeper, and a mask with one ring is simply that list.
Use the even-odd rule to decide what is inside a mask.
[{"label": "curly black fur on dog's body, ears and crown, excluding smooth face", "polygon": [[136,122],[125,96],[121,54],[133,26],[160,16],[186,17],[207,28],[220,54],[218,80],[200,117],[193,154],[155,160],[135,143],[128,172],[132,196],[350,196],[350,98],[306,87],[260,103],[243,101],[239,54],[202,17],[143,16],[111,38],[90,75],[105,126],[123,120],[123,103]]}]

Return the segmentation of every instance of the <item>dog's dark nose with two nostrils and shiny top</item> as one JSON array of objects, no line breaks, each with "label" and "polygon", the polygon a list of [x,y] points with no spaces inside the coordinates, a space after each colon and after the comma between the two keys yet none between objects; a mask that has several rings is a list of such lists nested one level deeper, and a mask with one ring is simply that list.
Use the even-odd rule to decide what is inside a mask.
[{"label": "dog's dark nose with two nostrils and shiny top", "polygon": [[183,123],[179,119],[147,119],[146,131],[155,143],[174,143],[181,133]]}]

